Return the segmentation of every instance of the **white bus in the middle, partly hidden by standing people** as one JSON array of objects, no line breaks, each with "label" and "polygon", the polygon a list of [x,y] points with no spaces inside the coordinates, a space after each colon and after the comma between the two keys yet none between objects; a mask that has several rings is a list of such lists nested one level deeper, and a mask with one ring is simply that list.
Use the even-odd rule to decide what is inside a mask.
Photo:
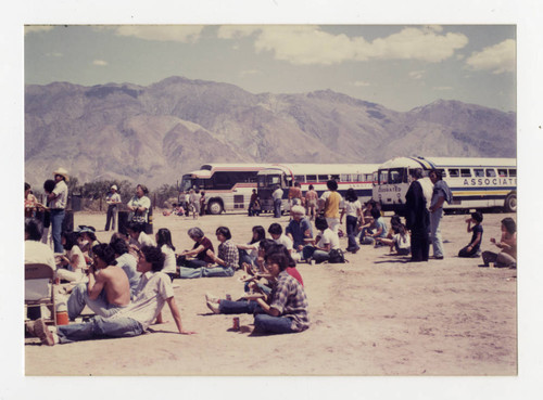
[{"label": "white bus in the middle, partly hidden by standing people", "polygon": [[353,188],[359,201],[366,202],[371,198],[378,167],[379,164],[276,164],[257,175],[262,210],[274,209],[272,193],[277,184],[283,190],[282,210],[289,211],[289,189],[294,182],[301,184],[302,193],[307,192],[312,184],[320,196],[328,190],[326,182],[330,179],[338,182],[338,192],[342,196],[349,188]]}]

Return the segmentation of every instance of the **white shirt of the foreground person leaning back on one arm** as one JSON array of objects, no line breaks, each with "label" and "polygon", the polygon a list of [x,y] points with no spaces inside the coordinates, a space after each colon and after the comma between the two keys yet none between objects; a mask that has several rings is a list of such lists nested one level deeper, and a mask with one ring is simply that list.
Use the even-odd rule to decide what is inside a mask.
[{"label": "white shirt of the foreground person leaning back on one arm", "polygon": [[146,272],[139,281],[132,302],[110,318],[128,317],[147,330],[156,320],[166,300],[173,296],[174,288],[168,275],[164,272]]}]

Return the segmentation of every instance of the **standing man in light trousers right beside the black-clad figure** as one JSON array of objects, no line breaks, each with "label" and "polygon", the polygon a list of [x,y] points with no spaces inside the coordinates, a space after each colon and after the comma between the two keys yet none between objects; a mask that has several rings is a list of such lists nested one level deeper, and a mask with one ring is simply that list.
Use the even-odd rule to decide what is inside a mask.
[{"label": "standing man in light trousers right beside the black-clad figure", "polygon": [[443,173],[440,170],[431,170],[430,180],[433,183],[432,199],[430,203],[430,241],[433,247],[433,258],[442,260],[444,254],[440,223],[443,217],[443,204],[445,202],[451,204],[453,194],[446,182],[443,181]]}]

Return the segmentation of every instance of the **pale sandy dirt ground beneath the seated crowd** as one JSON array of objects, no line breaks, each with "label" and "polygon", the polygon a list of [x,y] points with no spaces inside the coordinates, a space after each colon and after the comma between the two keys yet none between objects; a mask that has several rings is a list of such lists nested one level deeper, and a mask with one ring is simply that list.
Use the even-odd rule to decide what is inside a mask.
[{"label": "pale sandy dirt ground beneath the seated crowd", "polygon": [[[500,221],[515,215],[485,214],[482,249],[500,237]],[[516,375],[517,271],[481,268],[480,259],[460,259],[468,244],[467,216],[442,221],[446,257],[407,263],[388,247],[364,246],[345,264],[300,263],[310,302],[310,330],[293,335],[252,336],[253,318],[209,311],[204,294],[242,294],[241,272],[233,278],[175,280],[175,297],[184,326],[198,334],[176,333],[169,310],[165,324],[135,338],[40,346],[25,339],[26,375]],[[390,218],[386,218],[389,222]],[[156,210],[154,232],[168,228],[177,251],[191,248],[187,235],[200,227],[213,241],[219,225],[247,243],[251,228],[266,230],[270,215],[205,216],[198,220],[164,217]],[[100,241],[105,214],[77,212],[75,225],[96,227]],[[344,229],[344,227],[343,227]],[[341,240],[342,248],[346,238]],[[494,247],[495,248],[495,247]]]}]

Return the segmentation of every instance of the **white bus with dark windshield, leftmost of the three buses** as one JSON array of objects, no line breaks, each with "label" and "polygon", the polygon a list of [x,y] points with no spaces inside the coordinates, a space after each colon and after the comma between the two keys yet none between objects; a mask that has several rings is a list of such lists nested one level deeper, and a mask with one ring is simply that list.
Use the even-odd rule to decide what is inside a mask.
[{"label": "white bus with dark windshield, leftmost of the three buses", "polygon": [[247,209],[256,173],[272,164],[204,164],[182,176],[180,195],[198,188],[205,192],[206,211],[220,214]]}]

